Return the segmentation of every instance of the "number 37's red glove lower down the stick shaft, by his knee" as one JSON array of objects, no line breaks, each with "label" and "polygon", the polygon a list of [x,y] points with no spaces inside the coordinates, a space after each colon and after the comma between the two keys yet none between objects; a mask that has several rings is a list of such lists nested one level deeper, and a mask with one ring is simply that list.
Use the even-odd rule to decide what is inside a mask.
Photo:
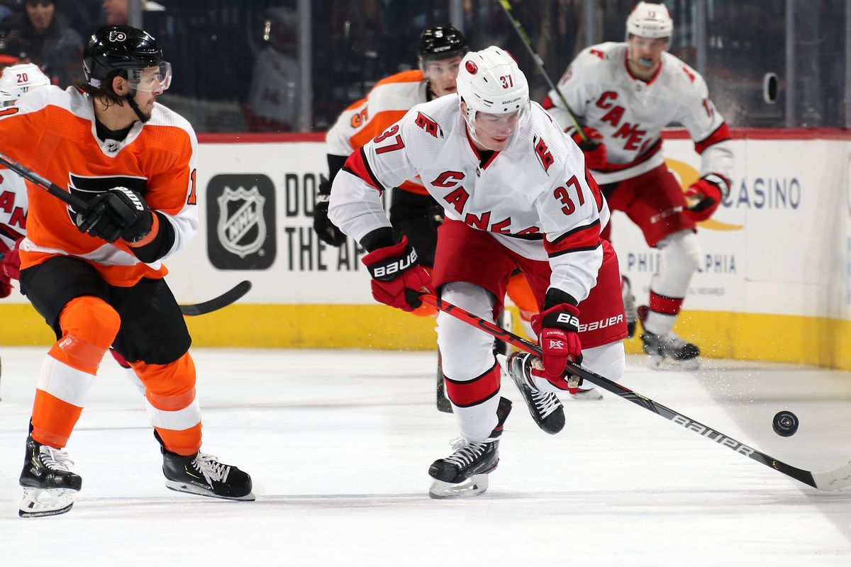
[{"label": "number 37's red glove lower down the stick shaft, by his knee", "polygon": [[582,361],[579,315],[580,310],[570,303],[558,303],[532,316],[532,329],[544,354],[544,377],[558,388],[568,388],[564,377],[568,360]]}]

